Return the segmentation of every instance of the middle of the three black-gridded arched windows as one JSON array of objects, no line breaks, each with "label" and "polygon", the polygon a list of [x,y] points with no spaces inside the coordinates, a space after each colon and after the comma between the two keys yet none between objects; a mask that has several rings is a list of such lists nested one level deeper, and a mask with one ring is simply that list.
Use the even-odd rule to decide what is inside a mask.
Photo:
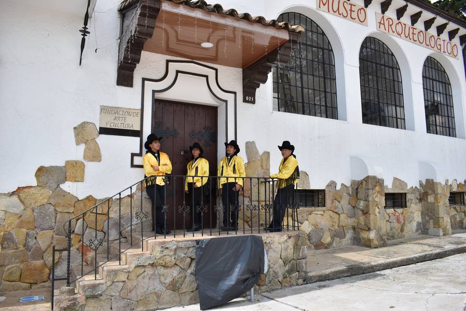
[{"label": "middle of the three black-gridded arched windows", "polygon": [[379,39],[364,39],[359,78],[363,123],[405,129],[401,72],[392,51]]}]

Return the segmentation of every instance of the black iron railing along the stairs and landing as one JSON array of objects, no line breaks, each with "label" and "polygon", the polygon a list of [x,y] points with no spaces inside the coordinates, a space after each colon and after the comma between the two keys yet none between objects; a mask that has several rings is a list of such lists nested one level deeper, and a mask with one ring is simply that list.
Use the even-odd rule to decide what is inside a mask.
[{"label": "black iron railing along the stairs and landing", "polygon": [[[193,177],[200,178],[203,186],[194,188],[188,183],[186,191],[186,179],[191,181]],[[159,179],[165,185],[146,187],[146,182],[153,182],[150,178],[101,200],[63,224],[67,248],[52,249],[52,310],[55,281],[66,280],[70,286],[86,275],[94,274],[97,279],[100,266],[116,258],[121,264],[121,254],[135,247],[144,251],[143,242],[150,238],[254,234],[271,226],[271,231],[299,230],[296,187],[278,191],[277,179],[229,177],[227,181],[231,184],[225,188],[217,176],[166,175]],[[243,185],[241,189],[226,195],[224,192],[229,187],[233,189],[236,183]],[[274,207],[275,214],[283,217],[276,227],[271,222]],[[195,223],[195,213],[200,224]],[[73,232],[82,237],[78,246],[72,245]],[[79,250],[80,259],[72,258],[74,247]],[[55,277],[56,252],[67,257],[66,275]],[[89,260],[91,252],[94,258]]]}]

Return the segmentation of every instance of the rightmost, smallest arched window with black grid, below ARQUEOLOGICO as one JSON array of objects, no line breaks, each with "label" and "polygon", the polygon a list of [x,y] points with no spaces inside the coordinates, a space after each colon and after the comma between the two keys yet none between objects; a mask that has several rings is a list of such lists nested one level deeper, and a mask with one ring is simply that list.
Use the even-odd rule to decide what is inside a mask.
[{"label": "rightmost, smallest arched window with black grid, below ARQUEOLOGICO", "polygon": [[453,97],[447,72],[432,57],[422,68],[427,133],[456,137]]}]

